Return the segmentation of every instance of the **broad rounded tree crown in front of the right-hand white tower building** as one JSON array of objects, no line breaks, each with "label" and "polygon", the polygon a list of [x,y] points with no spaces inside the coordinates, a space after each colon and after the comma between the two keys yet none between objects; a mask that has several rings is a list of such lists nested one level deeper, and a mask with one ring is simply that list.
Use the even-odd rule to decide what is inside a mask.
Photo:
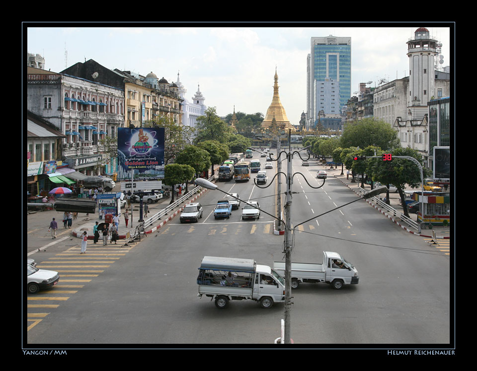
[{"label": "broad rounded tree crown in front of the right-hand white tower building", "polygon": [[341,147],[366,148],[370,145],[385,151],[399,147],[397,131],[390,124],[376,118],[366,118],[344,126],[340,138]]}]

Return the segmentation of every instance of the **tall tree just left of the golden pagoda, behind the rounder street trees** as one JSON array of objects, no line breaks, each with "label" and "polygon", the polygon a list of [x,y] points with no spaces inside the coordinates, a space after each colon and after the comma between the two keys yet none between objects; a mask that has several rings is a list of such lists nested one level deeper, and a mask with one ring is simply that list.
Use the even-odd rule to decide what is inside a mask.
[{"label": "tall tree just left of the golden pagoda, behind the rounder street trees", "polygon": [[209,107],[204,116],[197,118],[196,128],[194,144],[203,140],[217,140],[220,143],[226,143],[232,135],[232,129],[217,116],[215,107]]}]

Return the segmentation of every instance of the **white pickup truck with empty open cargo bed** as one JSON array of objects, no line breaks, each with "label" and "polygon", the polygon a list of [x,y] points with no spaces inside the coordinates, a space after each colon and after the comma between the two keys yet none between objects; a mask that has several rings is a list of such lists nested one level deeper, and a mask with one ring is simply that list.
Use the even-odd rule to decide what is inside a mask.
[{"label": "white pickup truck with empty open cargo bed", "polygon": [[[285,277],[285,263],[275,261],[273,269]],[[292,263],[292,289],[298,288],[300,282],[323,282],[330,284],[333,289],[339,290],[344,285],[356,285],[359,281],[358,271],[340,254],[332,251],[323,251],[323,262]]]}]

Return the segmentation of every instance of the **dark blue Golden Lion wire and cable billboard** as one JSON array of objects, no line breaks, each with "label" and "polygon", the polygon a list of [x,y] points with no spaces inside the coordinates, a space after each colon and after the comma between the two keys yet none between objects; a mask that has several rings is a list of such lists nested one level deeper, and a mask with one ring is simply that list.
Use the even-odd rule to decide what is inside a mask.
[{"label": "dark blue Golden Lion wire and cable billboard", "polygon": [[118,127],[118,178],[164,179],[164,128]]}]

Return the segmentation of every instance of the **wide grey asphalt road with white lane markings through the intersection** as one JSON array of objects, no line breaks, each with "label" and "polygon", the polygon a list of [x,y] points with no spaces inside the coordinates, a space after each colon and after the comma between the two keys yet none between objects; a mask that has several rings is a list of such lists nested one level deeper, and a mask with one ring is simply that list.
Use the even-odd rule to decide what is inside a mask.
[{"label": "wide grey asphalt road with white lane markings through the intersection", "polygon": [[[321,184],[315,176],[323,168],[316,162],[307,168],[295,158],[293,164],[294,171],[303,173],[312,186]],[[273,166],[267,170],[269,179],[276,171]],[[258,201],[263,210],[274,214],[275,185],[266,189],[252,182],[218,185],[242,199]],[[282,187],[284,191],[285,183]],[[298,192],[292,203],[294,225],[357,198],[332,177],[313,189],[297,175],[293,190]],[[81,260],[78,243],[77,247],[57,244],[40,255],[45,260],[39,265],[49,266],[46,269],[58,270],[52,261],[68,256],[84,263],[63,265],[77,264],[75,269],[83,271],[79,275],[94,276],[76,277],[89,281],[74,283],[81,286],[75,289],[59,287],[28,296],[28,304],[57,305],[28,309],[47,313],[36,317],[41,321],[27,332],[28,343],[61,343],[66,348],[74,344],[272,344],[280,336],[283,304],[261,309],[254,302],[233,301],[228,309],[220,310],[210,299],[197,297],[197,268],[204,255],[253,258],[266,265],[284,259],[283,236],[273,234],[272,217],[262,213],[258,221],[241,221],[239,209],[230,219],[214,219],[213,208],[223,196],[220,191],[206,192],[199,199],[204,207],[199,223],[180,224],[175,218],[135,247],[105,250],[89,245]],[[298,227],[293,261],[321,262],[323,250],[337,251],[351,261],[360,281],[339,291],[324,284],[302,284],[294,290],[291,334],[295,344],[374,348],[450,342],[449,256],[390,223],[362,200]],[[100,259],[87,260],[93,258]],[[93,270],[100,272],[87,272]]]}]

